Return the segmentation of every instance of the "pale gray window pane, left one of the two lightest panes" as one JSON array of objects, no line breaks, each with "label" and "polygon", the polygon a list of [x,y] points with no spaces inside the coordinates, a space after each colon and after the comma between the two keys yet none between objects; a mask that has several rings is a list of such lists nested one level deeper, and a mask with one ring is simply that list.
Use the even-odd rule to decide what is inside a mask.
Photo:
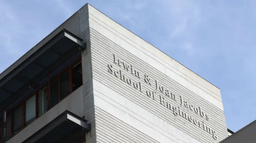
[{"label": "pale gray window pane, left one of the two lightest panes", "polygon": [[36,118],[36,95],[26,101],[25,125],[29,125]]}]

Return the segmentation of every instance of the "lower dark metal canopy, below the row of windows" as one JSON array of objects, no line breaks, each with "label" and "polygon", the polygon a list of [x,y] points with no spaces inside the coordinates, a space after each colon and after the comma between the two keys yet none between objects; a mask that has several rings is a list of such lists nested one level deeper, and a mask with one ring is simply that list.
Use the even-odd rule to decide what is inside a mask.
[{"label": "lower dark metal canopy, below the row of windows", "polygon": [[90,130],[87,120],[66,110],[22,143],[77,143]]}]

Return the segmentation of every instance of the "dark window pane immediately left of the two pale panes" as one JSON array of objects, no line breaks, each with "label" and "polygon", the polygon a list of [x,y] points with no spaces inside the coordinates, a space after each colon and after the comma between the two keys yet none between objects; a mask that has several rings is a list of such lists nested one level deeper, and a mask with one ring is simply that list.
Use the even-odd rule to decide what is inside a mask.
[{"label": "dark window pane immediately left of the two pale panes", "polygon": [[13,111],[13,134],[22,129],[22,106]]}]

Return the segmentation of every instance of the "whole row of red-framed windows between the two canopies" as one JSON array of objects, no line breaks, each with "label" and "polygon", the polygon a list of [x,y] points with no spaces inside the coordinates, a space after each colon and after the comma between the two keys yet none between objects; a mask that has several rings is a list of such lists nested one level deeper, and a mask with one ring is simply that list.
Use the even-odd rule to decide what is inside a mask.
[{"label": "whole row of red-framed windows between the two canopies", "polygon": [[82,63],[77,60],[56,78],[36,91],[29,99],[0,118],[0,143],[7,142],[13,135],[46,113],[62,99],[82,85]]}]

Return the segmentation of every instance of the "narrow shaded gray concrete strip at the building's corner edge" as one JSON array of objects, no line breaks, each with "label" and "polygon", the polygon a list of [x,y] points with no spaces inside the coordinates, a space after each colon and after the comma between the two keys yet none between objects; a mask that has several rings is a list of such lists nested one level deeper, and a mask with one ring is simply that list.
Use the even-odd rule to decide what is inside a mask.
[{"label": "narrow shaded gray concrete strip at the building's corner edge", "polygon": [[91,41],[89,34],[88,5],[83,6],[79,11],[80,37],[86,42],[87,49],[82,52],[83,72],[83,102],[85,119],[91,123],[91,131],[86,134],[86,142],[96,142],[94,96],[92,84],[92,57]]}]

